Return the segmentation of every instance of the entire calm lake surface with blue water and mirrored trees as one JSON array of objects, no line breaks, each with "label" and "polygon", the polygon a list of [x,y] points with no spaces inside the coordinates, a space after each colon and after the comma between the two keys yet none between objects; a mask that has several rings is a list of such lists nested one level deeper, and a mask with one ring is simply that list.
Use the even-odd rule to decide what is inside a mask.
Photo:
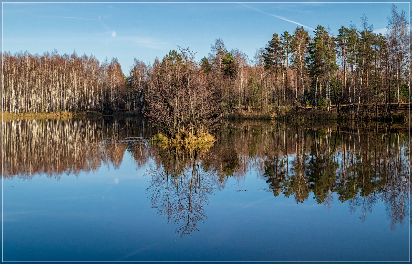
[{"label": "entire calm lake surface with blue water and mirrored trees", "polygon": [[144,119],[3,122],[3,261],[409,261],[409,129],[224,122],[162,149]]}]

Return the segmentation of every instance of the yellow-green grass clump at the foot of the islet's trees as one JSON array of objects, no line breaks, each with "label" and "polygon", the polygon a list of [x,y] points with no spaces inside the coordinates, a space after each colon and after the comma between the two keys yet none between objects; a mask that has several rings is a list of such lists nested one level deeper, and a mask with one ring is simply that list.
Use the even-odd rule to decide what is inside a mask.
[{"label": "yellow-green grass clump at the foot of the islet's trees", "polygon": [[178,149],[207,150],[213,145],[215,139],[207,132],[201,132],[199,135],[190,135],[188,131],[181,131],[175,138],[167,138],[166,135],[158,133],[149,142],[164,148],[176,147]]}]

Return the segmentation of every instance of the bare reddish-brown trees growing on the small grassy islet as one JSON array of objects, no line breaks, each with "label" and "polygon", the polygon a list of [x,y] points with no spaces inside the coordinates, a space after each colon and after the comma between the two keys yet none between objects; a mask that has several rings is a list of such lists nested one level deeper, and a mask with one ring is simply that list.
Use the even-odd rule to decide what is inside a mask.
[{"label": "bare reddish-brown trees growing on the small grassy islet", "polygon": [[155,124],[164,125],[172,138],[185,129],[194,135],[210,131],[219,112],[202,69],[194,62],[194,53],[179,48],[180,53],[171,51],[153,67],[146,96],[146,115]]}]

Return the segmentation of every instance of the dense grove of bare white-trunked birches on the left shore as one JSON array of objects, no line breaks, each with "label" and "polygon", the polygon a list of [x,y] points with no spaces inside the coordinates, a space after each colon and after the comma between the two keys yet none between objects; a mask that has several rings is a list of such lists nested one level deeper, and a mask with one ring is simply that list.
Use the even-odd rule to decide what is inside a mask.
[{"label": "dense grove of bare white-trunked birches on the left shore", "polygon": [[123,108],[124,75],[117,59],[91,55],[4,53],[3,110],[13,113],[107,111]]}]

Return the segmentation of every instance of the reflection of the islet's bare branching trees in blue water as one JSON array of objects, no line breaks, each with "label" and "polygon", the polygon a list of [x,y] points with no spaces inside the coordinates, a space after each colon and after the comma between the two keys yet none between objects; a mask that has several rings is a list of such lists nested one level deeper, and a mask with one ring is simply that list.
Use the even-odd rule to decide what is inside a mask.
[{"label": "reflection of the islet's bare branching trees in blue water", "polygon": [[148,171],[152,180],[146,191],[150,202],[160,206],[157,212],[168,223],[179,224],[176,232],[184,236],[197,230],[197,222],[207,218],[203,206],[208,203],[218,177],[202,164],[205,154],[199,150],[158,148],[161,160]]}]

